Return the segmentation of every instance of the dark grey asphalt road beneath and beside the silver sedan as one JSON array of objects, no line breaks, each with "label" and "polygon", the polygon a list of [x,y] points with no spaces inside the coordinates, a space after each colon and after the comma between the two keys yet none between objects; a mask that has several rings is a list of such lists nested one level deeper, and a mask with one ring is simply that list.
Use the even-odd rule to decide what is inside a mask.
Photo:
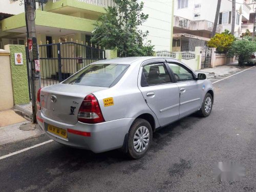
[{"label": "dark grey asphalt road beneath and beside the silver sedan", "polygon": [[[159,130],[142,159],[51,142],[0,160],[0,191],[256,191],[256,67],[214,87],[211,115]],[[0,156],[46,140],[2,146]],[[219,161],[242,163],[245,177],[215,180]]]}]

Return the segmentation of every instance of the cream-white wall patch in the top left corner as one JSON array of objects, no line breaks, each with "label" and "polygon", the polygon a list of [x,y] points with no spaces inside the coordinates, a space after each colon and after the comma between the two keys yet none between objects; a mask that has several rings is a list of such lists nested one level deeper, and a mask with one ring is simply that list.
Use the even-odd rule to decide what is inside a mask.
[{"label": "cream-white wall patch in the top left corner", "polygon": [[[24,1],[23,1],[24,2]],[[24,5],[19,5],[20,1],[0,0],[0,13],[16,15],[24,12]]]}]

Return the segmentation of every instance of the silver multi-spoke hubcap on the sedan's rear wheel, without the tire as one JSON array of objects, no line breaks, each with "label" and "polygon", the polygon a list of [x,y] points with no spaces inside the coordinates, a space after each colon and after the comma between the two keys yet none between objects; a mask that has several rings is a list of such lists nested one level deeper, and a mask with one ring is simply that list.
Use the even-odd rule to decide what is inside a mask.
[{"label": "silver multi-spoke hubcap on the sedan's rear wheel, without the tire", "polygon": [[137,153],[142,153],[146,150],[150,142],[150,132],[147,127],[140,126],[133,137],[133,147]]}]

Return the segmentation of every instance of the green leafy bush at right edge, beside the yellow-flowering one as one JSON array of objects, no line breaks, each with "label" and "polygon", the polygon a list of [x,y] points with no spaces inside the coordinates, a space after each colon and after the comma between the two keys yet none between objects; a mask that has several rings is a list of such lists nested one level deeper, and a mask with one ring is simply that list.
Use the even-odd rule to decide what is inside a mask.
[{"label": "green leafy bush at right edge, beside the yellow-flowering one", "polygon": [[230,56],[238,57],[238,65],[243,66],[252,53],[256,52],[256,42],[249,40],[233,41],[228,52]]}]

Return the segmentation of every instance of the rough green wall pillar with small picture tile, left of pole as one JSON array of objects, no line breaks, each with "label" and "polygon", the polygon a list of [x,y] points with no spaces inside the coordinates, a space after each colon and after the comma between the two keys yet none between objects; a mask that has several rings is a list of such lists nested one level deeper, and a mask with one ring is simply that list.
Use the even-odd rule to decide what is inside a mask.
[{"label": "rough green wall pillar with small picture tile, left of pole", "polygon": [[[10,51],[14,104],[29,103],[29,88],[25,46],[7,45],[5,46],[5,49]],[[15,65],[14,53],[23,54],[23,65]]]}]

